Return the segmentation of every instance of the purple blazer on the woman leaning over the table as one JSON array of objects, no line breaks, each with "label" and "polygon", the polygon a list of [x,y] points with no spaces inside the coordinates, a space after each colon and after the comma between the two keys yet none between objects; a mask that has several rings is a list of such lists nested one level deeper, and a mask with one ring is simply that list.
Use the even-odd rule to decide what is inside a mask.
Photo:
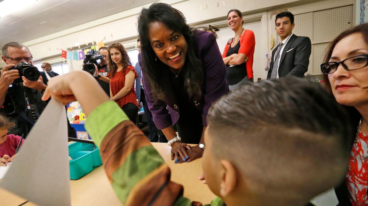
[{"label": "purple blazer on the woman leaning over the table", "polygon": [[[197,58],[202,61],[204,70],[204,82],[202,88],[202,98],[195,99],[190,96],[192,104],[202,113],[203,126],[207,126],[207,113],[209,107],[221,96],[229,92],[229,84],[226,81],[226,70],[222,60],[216,37],[213,33],[205,31],[196,31],[194,43],[197,45]],[[138,55],[139,65],[141,65],[141,54]],[[141,65],[141,67],[144,65]],[[142,69],[143,71],[143,69]],[[163,82],[166,82],[166,88],[172,88],[170,84],[170,73],[163,72]],[[180,108],[177,106],[177,100],[174,91],[169,89],[167,98],[161,104],[155,103],[151,85],[143,76],[144,93],[148,103],[149,110],[153,116],[153,122],[158,129],[167,128],[174,125],[180,118]]]}]

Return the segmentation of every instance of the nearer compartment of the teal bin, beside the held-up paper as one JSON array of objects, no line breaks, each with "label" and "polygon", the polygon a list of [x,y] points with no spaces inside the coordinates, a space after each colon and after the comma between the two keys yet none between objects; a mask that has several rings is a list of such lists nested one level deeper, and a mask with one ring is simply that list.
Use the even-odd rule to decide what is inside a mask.
[{"label": "nearer compartment of the teal bin, beside the held-up paper", "polygon": [[69,160],[70,179],[78,180],[93,170],[92,153],[87,151],[75,151],[69,153],[73,160]]}]

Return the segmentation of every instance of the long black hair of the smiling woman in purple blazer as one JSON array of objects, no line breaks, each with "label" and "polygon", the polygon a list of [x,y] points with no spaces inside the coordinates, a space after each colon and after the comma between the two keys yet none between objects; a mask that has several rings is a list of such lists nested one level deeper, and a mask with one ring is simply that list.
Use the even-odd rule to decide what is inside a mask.
[{"label": "long black hair of the smiling woman in purple blazer", "polygon": [[169,66],[156,58],[156,54],[151,47],[148,30],[152,22],[161,22],[170,29],[183,34],[188,45],[187,56],[182,68],[185,88],[187,88],[190,95],[201,96],[203,68],[202,62],[196,56],[196,45],[193,38],[195,29],[187,25],[183,13],[164,3],[154,3],[148,9],[143,8],[138,17],[138,33],[143,58],[142,70],[145,78],[148,78],[151,84],[153,96],[156,100],[163,100],[167,95],[167,88],[163,87],[161,74],[163,69]]}]

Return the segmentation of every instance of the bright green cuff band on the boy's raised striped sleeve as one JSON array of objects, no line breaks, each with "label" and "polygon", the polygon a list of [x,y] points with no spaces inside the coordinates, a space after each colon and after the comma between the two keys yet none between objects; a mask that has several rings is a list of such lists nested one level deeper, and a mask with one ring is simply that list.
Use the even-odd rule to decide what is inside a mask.
[{"label": "bright green cuff band on the boy's raised striped sleeve", "polygon": [[118,104],[114,101],[107,101],[100,104],[88,115],[84,126],[95,144],[100,147],[103,137],[125,120],[129,120],[129,118]]}]

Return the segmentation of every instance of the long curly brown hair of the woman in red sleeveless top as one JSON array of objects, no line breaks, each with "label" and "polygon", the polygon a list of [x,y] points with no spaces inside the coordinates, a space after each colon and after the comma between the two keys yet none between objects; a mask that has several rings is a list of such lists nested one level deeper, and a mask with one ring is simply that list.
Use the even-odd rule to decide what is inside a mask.
[{"label": "long curly brown hair of the woman in red sleeveless top", "polygon": [[121,63],[123,63],[123,71],[125,72],[125,69],[127,68],[128,65],[132,65],[132,62],[130,61],[130,58],[128,56],[127,51],[125,50],[124,46],[121,45],[118,42],[114,42],[112,44],[109,45],[109,47],[107,48],[107,51],[109,52],[109,56],[107,57],[107,68],[109,69],[109,73],[110,76],[113,77],[116,73],[117,70],[117,65],[115,62],[113,62],[113,60],[111,59],[111,55],[110,55],[110,49],[112,48],[116,48],[117,50],[120,51],[121,53]]}]

